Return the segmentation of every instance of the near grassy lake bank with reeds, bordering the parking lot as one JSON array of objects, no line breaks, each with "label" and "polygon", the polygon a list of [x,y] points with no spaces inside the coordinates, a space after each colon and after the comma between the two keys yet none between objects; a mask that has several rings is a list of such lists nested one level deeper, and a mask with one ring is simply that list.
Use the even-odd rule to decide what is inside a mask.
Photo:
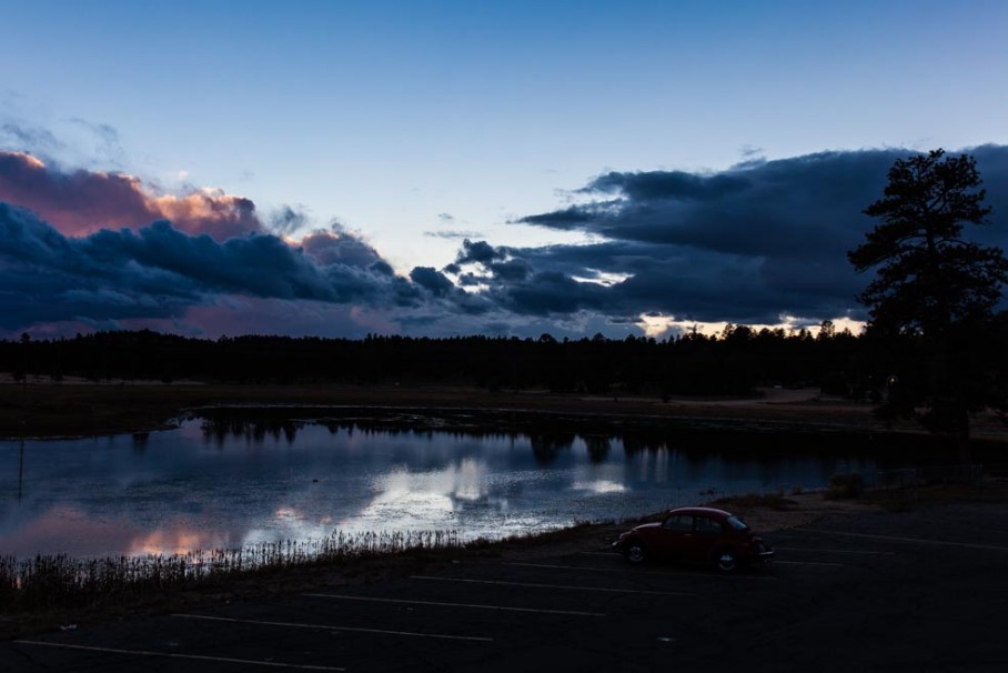
[{"label": "near grassy lake bank with reeds, bordering the parking lot", "polygon": [[[908,488],[898,492],[866,491],[861,498],[844,500],[828,499],[824,491],[787,496],[749,494],[719,499],[708,504],[726,509],[737,514],[757,533],[773,536],[829,516],[870,516],[878,518],[884,523],[895,521],[910,511],[970,503],[984,506],[1004,502],[1008,502],[1008,480],[974,485]],[[223,602],[272,600],[323,589],[390,582],[458,564],[534,562],[585,550],[607,552],[609,544],[622,531],[637,523],[659,520],[663,515],[664,512],[657,512],[636,520],[576,524],[555,531],[497,541],[475,541],[460,546],[410,549],[349,556],[324,563],[309,562],[245,571],[168,592],[141,595],[123,592],[87,606],[0,612],[0,642],[57,629],[75,629],[78,625],[84,627]],[[72,626],[68,626],[71,624]]]}]

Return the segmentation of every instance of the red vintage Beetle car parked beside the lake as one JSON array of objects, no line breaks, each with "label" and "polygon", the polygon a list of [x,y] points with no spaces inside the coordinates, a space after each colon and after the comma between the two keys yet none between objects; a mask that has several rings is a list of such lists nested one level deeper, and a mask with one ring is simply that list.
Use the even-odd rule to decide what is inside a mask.
[{"label": "red vintage Beetle car parked beside the lake", "polygon": [[662,523],[645,523],[613,543],[631,563],[648,559],[710,563],[729,573],[766,563],[774,551],[737,516],[714,508],[672,510]]}]

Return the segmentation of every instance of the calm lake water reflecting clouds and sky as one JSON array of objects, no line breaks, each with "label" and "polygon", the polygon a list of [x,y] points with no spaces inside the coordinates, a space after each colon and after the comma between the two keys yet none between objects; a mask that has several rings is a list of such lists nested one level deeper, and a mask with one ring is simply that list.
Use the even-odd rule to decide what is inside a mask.
[{"label": "calm lake water reflecting clouds and sky", "polygon": [[636,518],[724,494],[821,488],[867,459],[765,460],[619,438],[365,431],[353,423],[0,442],[0,554],[183,553],[345,532],[463,539]]}]

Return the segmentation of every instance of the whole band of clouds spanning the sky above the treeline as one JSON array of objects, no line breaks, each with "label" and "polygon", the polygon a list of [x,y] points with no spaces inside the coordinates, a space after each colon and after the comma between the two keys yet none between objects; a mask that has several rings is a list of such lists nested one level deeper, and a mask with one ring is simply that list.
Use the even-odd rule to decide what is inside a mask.
[{"label": "whole band of clouds spanning the sky above the treeline", "polygon": [[[1008,243],[1008,148],[968,150]],[[339,224],[300,241],[303,213],[264,223],[219,191],[160,194],[124,173],[0,152],[0,333],[137,329],[359,336],[402,332],[611,335],[654,321],[815,324],[863,319],[870,280],[846,253],[875,222],[906,150],[823,152],[712,173],[607,172],[573,205],[517,222],[577,231],[546,247],[466,239],[442,269],[399,275]]]}]

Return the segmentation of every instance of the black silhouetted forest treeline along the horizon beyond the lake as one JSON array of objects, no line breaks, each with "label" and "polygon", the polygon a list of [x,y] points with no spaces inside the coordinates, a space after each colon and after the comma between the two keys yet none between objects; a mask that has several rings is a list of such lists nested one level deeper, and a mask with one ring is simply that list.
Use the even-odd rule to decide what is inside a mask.
[{"label": "black silhouetted forest treeline along the horizon beyond the lake", "polygon": [[[971,341],[1008,342],[1001,314]],[[242,384],[429,383],[473,385],[492,391],[547,389],[598,395],[746,395],[758,386],[819,386],[826,393],[880,402],[915,399],[921,349],[913,334],[861,335],[836,331],[828,321],[808,330],[756,330],[728,325],[716,335],[688,332],[655,340],[643,336],[577,340],[516,336],[444,339],[370,335],[362,340],[268,335],[216,340],[149,330],[95,332],[73,339],[0,341],[0,371],[16,381],[60,382],[181,380]],[[971,366],[989,393],[1004,390],[1004,349]],[[1000,360],[989,360],[1000,353]],[[964,364],[967,366],[967,364]],[[985,399],[989,394],[985,395]]]}]

